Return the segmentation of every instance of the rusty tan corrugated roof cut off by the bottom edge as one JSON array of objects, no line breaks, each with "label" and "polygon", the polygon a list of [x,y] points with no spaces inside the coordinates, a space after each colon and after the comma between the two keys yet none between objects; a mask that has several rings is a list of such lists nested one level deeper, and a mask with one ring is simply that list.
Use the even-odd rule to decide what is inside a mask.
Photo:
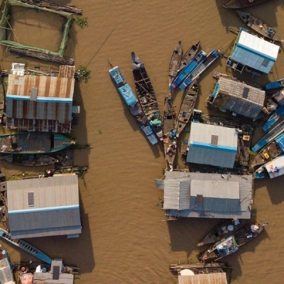
[{"label": "rusty tan corrugated roof cut off by the bottom edge", "polygon": [[178,284],[227,284],[226,273],[178,275]]}]

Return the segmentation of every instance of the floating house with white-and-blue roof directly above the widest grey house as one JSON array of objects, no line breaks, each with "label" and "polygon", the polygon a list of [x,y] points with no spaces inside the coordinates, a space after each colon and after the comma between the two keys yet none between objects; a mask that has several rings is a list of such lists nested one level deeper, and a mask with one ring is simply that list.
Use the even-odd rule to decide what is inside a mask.
[{"label": "floating house with white-and-blue roof directly above the widest grey house", "polygon": [[234,168],[237,151],[236,129],[192,122],[187,163]]}]

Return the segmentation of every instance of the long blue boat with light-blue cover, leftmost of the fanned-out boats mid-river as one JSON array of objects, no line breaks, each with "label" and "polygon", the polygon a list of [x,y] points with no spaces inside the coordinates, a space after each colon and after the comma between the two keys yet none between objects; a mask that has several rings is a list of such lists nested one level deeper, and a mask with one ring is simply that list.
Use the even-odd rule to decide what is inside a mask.
[{"label": "long blue boat with light-blue cover, leftmost of the fanned-out boats mid-river", "polygon": [[124,103],[129,108],[130,113],[136,117],[139,127],[145,133],[148,140],[152,145],[158,143],[155,133],[151,128],[151,125],[146,118],[145,114],[141,109],[141,105],[136,98],[136,95],[133,93],[129,83],[126,81],[124,74],[121,72],[118,66],[112,67],[109,70],[109,75],[113,80],[116,89],[118,89],[119,94],[121,95]]}]

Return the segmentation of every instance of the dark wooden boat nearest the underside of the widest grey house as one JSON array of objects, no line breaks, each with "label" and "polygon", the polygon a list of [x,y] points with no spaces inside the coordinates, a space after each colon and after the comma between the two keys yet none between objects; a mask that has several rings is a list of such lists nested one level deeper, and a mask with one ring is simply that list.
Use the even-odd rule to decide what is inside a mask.
[{"label": "dark wooden boat nearest the underside of the widest grey house", "polygon": [[202,241],[197,243],[197,246],[204,246],[204,244],[213,244],[227,236],[234,234],[244,224],[239,219],[226,219],[221,224],[217,225],[212,231],[207,234]]}]

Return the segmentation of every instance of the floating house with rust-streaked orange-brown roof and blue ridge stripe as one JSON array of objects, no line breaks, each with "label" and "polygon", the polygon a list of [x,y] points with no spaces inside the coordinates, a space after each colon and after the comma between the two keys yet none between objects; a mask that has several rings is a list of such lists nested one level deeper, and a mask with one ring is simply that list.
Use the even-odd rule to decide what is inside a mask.
[{"label": "floating house with rust-streaked orange-brown roof and blue ridge stripe", "polygon": [[[6,127],[18,131],[70,133],[75,66],[61,65],[58,76],[25,75],[13,63],[6,92]],[[79,110],[80,111],[80,110]]]}]

